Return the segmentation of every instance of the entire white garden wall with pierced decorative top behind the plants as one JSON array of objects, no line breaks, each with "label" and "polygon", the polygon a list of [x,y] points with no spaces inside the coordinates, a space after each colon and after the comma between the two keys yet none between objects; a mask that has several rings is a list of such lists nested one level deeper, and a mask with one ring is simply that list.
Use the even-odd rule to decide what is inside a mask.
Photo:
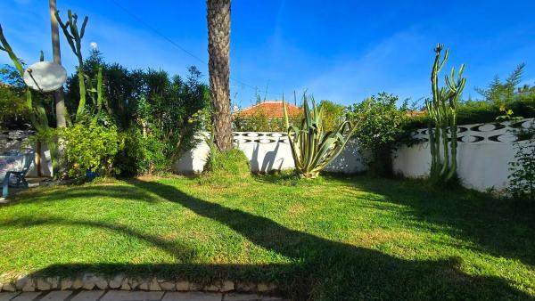
[{"label": "entire white garden wall with pierced decorative top behind the plants", "polygon": [[[530,126],[533,119],[510,124],[490,123],[463,125],[457,128],[457,173],[466,187],[478,191],[490,189],[501,191],[507,186],[509,162],[514,159],[516,137],[509,132],[512,126]],[[235,145],[251,163],[253,172],[269,172],[293,168],[292,151],[285,133],[235,132]],[[394,172],[407,177],[429,175],[431,154],[427,142],[427,129],[416,131],[415,137],[422,140],[411,147],[401,147],[393,154]],[[177,173],[191,174],[202,171],[209,154],[206,142],[200,142],[187,151],[176,163]],[[342,154],[327,168],[327,171],[354,174],[366,170],[363,156],[358,151],[358,142],[348,143]]]}]

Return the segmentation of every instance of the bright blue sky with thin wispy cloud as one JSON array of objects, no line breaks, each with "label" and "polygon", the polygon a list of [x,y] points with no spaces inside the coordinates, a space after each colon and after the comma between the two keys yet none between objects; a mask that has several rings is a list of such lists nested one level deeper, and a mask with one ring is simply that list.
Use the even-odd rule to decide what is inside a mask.
[{"label": "bright blue sky with thin wispy cloud", "polygon": [[[86,53],[96,42],[106,61],[129,68],[184,75],[187,66],[196,65],[208,73],[201,62],[208,61],[203,0],[57,2],[62,15],[71,8],[89,16]],[[520,62],[527,63],[524,82],[533,84],[533,12],[532,0],[233,0],[233,102],[248,106],[254,102],[254,87],[263,95],[267,85],[268,99],[308,89],[317,99],[342,104],[383,91],[416,101],[430,93],[432,48],[437,42],[451,48],[448,69],[466,64],[465,98],[477,98],[475,86],[488,85],[497,74],[506,77]],[[24,61],[37,61],[41,49],[51,60],[48,1],[2,0],[0,23]],[[75,57],[63,37],[62,59],[72,72]],[[0,63],[8,62],[0,53]]]}]

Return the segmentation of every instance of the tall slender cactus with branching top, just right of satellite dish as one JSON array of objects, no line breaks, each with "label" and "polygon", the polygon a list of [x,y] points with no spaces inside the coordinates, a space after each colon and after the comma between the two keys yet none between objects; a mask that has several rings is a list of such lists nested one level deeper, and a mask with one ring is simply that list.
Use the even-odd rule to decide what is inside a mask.
[{"label": "tall slender cactus with branching top, just right of satellite dish", "polygon": [[78,58],[77,73],[80,102],[78,102],[78,110],[76,111],[76,116],[77,118],[79,118],[86,108],[86,75],[84,73],[84,59],[82,57],[82,38],[84,38],[84,35],[86,33],[86,25],[87,20],[89,20],[89,17],[86,16],[84,18],[84,21],[82,22],[82,27],[78,32],[78,15],[76,13],[73,14],[69,10],[67,11],[67,16],[69,20],[64,23],[62,21],[62,18],[60,18],[60,11],[55,12],[56,20],[58,20],[58,24],[63,30],[63,34],[65,35],[65,38],[67,39],[67,42],[70,45],[70,49],[72,50],[72,53],[74,53]]}]

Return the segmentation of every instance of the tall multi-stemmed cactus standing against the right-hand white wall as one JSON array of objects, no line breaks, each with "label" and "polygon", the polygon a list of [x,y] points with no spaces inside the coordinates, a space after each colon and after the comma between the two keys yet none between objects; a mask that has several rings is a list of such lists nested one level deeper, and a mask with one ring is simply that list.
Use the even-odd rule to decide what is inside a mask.
[{"label": "tall multi-stemmed cactus standing against the right-hand white wall", "polygon": [[434,48],[435,60],[431,71],[432,100],[425,100],[430,117],[430,176],[433,181],[439,183],[447,183],[457,174],[457,104],[466,83],[466,78],[463,77],[465,65],[462,64],[457,72],[457,80],[455,68],[452,68],[450,76],[445,76],[446,87],[439,88],[439,73],[449,58],[449,49],[446,49],[444,57],[440,58],[443,48],[444,45],[441,44]]}]

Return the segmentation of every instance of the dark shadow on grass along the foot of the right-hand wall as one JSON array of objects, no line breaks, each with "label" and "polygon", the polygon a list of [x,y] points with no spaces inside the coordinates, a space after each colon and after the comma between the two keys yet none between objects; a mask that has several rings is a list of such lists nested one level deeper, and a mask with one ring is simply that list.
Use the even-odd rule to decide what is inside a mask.
[{"label": "dark shadow on grass along the foot of the right-hand wall", "polygon": [[495,199],[465,189],[434,189],[416,180],[339,180],[376,194],[378,198],[368,199],[378,208],[390,203],[410,207],[417,220],[446,226],[444,231],[473,242],[478,251],[535,266],[535,204]]}]

